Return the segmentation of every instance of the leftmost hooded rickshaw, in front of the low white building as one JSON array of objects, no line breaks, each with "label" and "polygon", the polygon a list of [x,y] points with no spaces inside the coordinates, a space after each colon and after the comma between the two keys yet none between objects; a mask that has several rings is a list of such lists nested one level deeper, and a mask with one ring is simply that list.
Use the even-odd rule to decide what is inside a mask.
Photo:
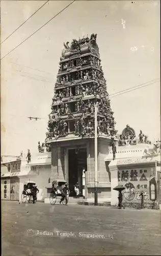
[{"label": "leftmost hooded rickshaw, in front of the low white building", "polygon": [[32,193],[28,193],[28,189],[33,189],[33,185],[36,185],[36,183],[34,181],[25,181],[24,185],[23,185],[23,191],[21,194],[21,201],[22,203],[25,203],[28,199],[29,203],[36,203],[37,200],[34,200],[33,202],[33,194]]}]

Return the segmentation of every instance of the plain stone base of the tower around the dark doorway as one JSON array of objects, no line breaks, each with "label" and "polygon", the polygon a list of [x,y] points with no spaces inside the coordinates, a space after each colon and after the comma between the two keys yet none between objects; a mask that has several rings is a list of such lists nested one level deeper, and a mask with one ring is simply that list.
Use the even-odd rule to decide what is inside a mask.
[{"label": "plain stone base of the tower around the dark doorway", "polygon": [[[98,198],[111,197],[111,174],[105,157],[109,154],[109,141],[98,138]],[[87,148],[86,198],[94,197],[94,139],[71,140],[54,143],[51,146],[51,180],[68,180],[68,150]]]}]

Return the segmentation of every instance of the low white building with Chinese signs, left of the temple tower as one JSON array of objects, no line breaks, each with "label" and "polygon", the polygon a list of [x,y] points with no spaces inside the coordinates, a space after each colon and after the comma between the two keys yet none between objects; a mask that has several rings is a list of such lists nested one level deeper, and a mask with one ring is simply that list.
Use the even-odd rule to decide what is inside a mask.
[{"label": "low white building with Chinese signs, left of the temple tower", "polygon": [[26,159],[1,163],[1,199],[21,201],[23,185],[34,181],[39,188],[38,200],[47,197],[46,186],[50,183],[51,153],[42,152]]}]

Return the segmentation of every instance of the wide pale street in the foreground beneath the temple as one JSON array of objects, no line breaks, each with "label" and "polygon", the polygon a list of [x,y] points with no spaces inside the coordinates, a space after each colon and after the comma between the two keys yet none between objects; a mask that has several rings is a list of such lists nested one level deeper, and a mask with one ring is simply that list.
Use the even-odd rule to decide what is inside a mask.
[{"label": "wide pale street in the foreground beneath the temple", "polygon": [[160,220],[159,210],[2,201],[2,255],[160,255]]}]

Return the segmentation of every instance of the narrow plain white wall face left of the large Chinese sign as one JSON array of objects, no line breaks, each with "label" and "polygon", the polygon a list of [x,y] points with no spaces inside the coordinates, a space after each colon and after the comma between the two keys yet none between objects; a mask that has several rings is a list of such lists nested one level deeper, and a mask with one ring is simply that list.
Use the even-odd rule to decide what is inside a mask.
[{"label": "narrow plain white wall face left of the large Chinese sign", "polygon": [[118,191],[113,188],[118,185],[118,169],[116,165],[113,165],[114,161],[111,161],[109,164],[110,172],[111,172],[111,205],[118,205]]}]

